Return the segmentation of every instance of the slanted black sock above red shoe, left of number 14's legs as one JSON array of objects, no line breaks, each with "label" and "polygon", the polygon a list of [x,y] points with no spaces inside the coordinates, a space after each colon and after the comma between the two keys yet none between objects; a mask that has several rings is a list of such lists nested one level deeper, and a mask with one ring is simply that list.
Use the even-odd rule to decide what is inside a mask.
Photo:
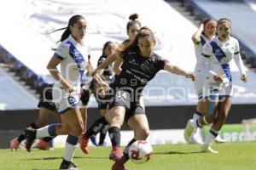
[{"label": "slanted black sock above red shoe, left of number 14's legs", "polygon": [[85,137],[88,139],[92,135],[96,135],[96,133],[99,133],[105,125],[108,125],[108,122],[106,121],[105,117],[102,116],[99,119],[96,120],[96,122],[93,123],[93,125],[86,131]]}]

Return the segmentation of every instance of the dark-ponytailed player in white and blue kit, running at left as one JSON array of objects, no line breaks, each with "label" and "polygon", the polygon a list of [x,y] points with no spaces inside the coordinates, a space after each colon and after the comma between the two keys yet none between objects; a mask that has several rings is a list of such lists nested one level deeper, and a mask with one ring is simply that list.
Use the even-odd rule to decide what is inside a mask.
[{"label": "dark-ponytailed player in white and blue kit, running at left", "polygon": [[[54,56],[49,60],[47,68],[55,78],[53,101],[61,115],[61,123],[39,128],[26,129],[26,149],[30,151],[32,141],[36,138],[68,134],[65,146],[65,156],[60,169],[76,169],[73,155],[78,144],[79,135],[84,131],[84,122],[79,111],[80,82],[87,65],[88,47],[83,39],[87,23],[83,16],[74,15],[68,21],[68,26],[61,36],[61,44]],[[56,68],[61,65],[61,71]],[[102,79],[96,75],[96,81]],[[108,86],[102,82],[103,86]]]}]

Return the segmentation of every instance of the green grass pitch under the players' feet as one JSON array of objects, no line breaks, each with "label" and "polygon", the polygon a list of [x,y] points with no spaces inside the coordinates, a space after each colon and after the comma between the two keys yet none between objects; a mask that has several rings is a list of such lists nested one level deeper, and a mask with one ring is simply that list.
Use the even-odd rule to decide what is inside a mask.
[{"label": "green grass pitch under the players' feet", "polygon": [[[200,153],[200,145],[154,145],[152,159],[142,165],[128,161],[129,170],[253,170],[256,169],[256,142],[212,144],[218,154]],[[110,170],[109,147],[90,147],[84,155],[78,148],[74,162],[83,170]],[[64,150],[0,150],[0,170],[55,170]]]}]

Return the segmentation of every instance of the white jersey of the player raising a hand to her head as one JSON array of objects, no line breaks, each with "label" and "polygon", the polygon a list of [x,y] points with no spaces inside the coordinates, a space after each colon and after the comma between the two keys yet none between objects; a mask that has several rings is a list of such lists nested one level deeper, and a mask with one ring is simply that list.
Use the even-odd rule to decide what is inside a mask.
[{"label": "white jersey of the player raising a hand to her head", "polygon": [[[214,37],[212,37],[213,39]],[[201,56],[202,53],[202,48],[203,46],[208,42],[207,37],[204,36],[204,34],[201,34],[200,36],[200,42],[195,43],[195,57],[196,57],[196,64],[195,64],[195,74],[201,73],[201,71],[204,70],[205,65],[206,65],[206,59],[204,59]]]}]

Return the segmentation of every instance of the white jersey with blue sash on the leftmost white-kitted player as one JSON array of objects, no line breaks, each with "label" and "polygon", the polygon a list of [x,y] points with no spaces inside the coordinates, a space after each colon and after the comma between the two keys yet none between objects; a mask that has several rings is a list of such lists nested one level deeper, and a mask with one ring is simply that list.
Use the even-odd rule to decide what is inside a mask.
[{"label": "white jersey with blue sash on the leftmost white-kitted player", "polygon": [[[54,56],[61,59],[61,76],[70,83],[73,88],[79,89],[84,75],[85,65],[88,61],[90,49],[86,45],[80,45],[70,35],[61,42]],[[61,87],[59,82],[55,85]]]}]

